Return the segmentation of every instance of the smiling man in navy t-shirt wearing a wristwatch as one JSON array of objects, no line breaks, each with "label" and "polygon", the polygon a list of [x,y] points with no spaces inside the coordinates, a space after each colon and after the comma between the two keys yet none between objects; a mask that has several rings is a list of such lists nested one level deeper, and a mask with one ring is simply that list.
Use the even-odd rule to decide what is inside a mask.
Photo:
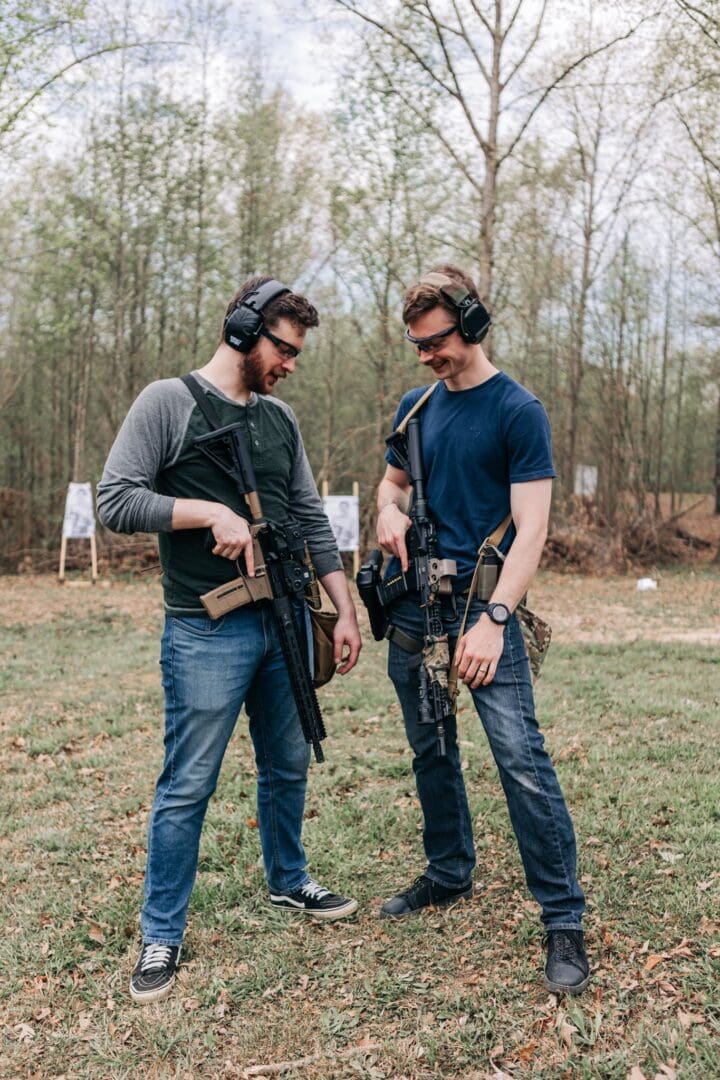
[{"label": "smiling man in navy t-shirt wearing a wristwatch", "polygon": [[[450,265],[436,267],[405,297],[403,319],[420,363],[440,380],[418,413],[429,510],[440,558],[454,559],[459,613],[446,630],[459,677],[470,688],[500,772],[528,887],[541,905],[547,933],[545,985],[579,994],[589,980],[581,919],[584,896],[575,874],[575,838],[555,769],[534,715],[532,683],[519,623],[513,613],[532,580],[547,534],[553,469],[551,430],[542,404],[498,370],[480,340],[483,318],[473,283]],[[426,388],[400,401],[395,427]],[[410,482],[393,450],[378,491],[378,540],[407,569]],[[502,573],[488,598],[471,597],[461,617],[477,551],[510,514],[501,542]],[[395,564],[397,565],[397,564]],[[392,561],[391,561],[392,571]],[[390,610],[402,632],[391,636],[389,672],[403,707],[424,815],[427,867],[389,900],[384,918],[404,918],[429,905],[472,894],[472,823],[454,718],[446,724],[447,754],[437,754],[433,725],[419,723],[422,638],[417,594]],[[399,643],[403,644],[399,644]]]}]

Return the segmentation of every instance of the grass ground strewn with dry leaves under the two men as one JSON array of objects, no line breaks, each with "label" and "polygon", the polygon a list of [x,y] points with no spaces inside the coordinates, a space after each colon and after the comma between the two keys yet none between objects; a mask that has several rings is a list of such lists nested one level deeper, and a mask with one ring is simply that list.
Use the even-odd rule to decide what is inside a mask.
[{"label": "grass ground strewn with dry leaves under the two men", "polygon": [[[595,969],[540,982],[525,889],[479,723],[461,697],[478,851],[468,904],[381,922],[423,868],[384,649],[321,691],[331,737],[305,846],[358,916],[269,908],[241,719],[210,804],[186,963],[171,999],[126,993],[161,761],[155,582],[0,579],[2,1078],[720,1077],[720,573],[545,575],[555,625],[538,689],[575,821]],[[283,1067],[281,1063],[295,1063]]]}]

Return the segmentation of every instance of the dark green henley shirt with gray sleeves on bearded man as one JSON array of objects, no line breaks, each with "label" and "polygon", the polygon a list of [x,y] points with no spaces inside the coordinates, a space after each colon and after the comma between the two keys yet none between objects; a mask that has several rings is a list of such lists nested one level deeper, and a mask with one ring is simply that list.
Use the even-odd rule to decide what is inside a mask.
[{"label": "dark green henley shirt with gray sleeves on bearded man", "polygon": [[[257,394],[241,405],[193,374],[220,423],[242,424],[264,515],[277,523],[291,518],[301,526],[320,577],[341,569],[289,405]],[[207,529],[173,531],[175,500],[222,502],[249,517],[232,480],[194,446],[194,438],[208,430],[180,379],[151,382],[131,406],[97,488],[98,514],[108,528],[159,534],[165,606],[174,613],[203,611],[199,596],[237,575],[233,562],[213,555]]]}]

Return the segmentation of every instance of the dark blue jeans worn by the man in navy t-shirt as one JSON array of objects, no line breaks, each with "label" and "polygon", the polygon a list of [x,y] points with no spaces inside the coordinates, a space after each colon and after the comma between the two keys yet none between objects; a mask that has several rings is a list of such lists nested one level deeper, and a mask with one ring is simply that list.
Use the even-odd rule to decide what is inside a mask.
[{"label": "dark blue jeans worn by the man in navy t-shirt", "polygon": [[[464,597],[459,605],[464,607]],[[467,625],[485,609],[474,600]],[[446,620],[454,645],[461,613]],[[392,621],[422,637],[422,615],[411,597],[393,605]],[[420,654],[390,643],[389,673],[415,752],[418,795],[424,816],[427,877],[449,888],[470,881],[475,866],[473,829],[460,767],[458,727],[447,724],[447,757],[437,756],[435,726],[418,723]],[[489,686],[471,691],[490,743],[507,800],[525,876],[547,929],[578,929],[585,902],[575,875],[575,836],[562,792],[535,720],[532,683],[522,632],[515,616],[504,633],[503,654]]]}]

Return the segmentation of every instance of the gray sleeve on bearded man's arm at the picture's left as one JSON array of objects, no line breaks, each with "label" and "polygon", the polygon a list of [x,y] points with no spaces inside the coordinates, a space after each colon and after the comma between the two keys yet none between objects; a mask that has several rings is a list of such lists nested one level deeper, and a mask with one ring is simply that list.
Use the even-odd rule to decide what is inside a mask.
[{"label": "gray sleeve on bearded man's arm at the picture's left", "polygon": [[[193,402],[184,397],[187,426]],[[167,381],[150,383],[131,406],[97,485],[98,516],[113,532],[172,531],[175,499],[160,495],[155,483],[180,449],[176,414],[177,407],[168,407]]]}]

